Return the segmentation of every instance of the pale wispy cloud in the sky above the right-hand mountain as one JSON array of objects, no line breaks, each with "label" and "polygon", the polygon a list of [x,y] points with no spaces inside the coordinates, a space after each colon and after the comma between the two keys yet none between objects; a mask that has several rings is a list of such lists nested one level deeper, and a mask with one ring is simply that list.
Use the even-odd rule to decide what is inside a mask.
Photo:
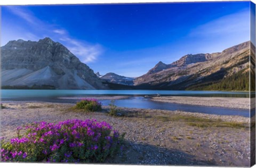
[{"label": "pale wispy cloud in the sky above the right-hand mountain", "polygon": [[183,51],[192,54],[221,52],[249,40],[250,9],[246,9],[191,29]]}]

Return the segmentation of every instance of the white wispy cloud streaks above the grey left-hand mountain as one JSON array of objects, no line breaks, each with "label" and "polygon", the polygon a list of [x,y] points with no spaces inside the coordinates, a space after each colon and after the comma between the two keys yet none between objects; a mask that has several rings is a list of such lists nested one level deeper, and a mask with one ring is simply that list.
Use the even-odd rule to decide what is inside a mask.
[{"label": "white wispy cloud streaks above the grey left-hand mountain", "polygon": [[[100,44],[91,44],[89,42],[82,41],[80,39],[72,38],[69,32],[58,25],[53,25],[48,22],[44,22],[37,18],[31,11],[19,7],[19,6],[5,6],[10,12],[17,15],[19,18],[26,21],[31,26],[30,31],[22,29],[22,33],[12,31],[13,38],[16,34],[16,38],[22,38],[25,40],[38,41],[40,38],[50,37],[54,41],[61,41],[73,54],[75,54],[82,62],[94,62],[98,59],[99,55],[103,52]],[[9,31],[9,30],[6,30]],[[10,33],[10,31],[9,31]],[[10,41],[10,37],[5,36],[3,41]]]}]

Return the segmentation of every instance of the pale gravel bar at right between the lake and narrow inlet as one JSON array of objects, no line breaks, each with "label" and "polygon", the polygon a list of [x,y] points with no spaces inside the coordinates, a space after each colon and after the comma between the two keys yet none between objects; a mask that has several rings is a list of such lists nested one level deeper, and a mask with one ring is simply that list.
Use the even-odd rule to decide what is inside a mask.
[{"label": "pale gravel bar at right between the lake and narrow inlet", "polygon": [[153,97],[153,101],[179,103],[197,106],[226,107],[250,109],[249,98],[220,98],[220,97]]}]

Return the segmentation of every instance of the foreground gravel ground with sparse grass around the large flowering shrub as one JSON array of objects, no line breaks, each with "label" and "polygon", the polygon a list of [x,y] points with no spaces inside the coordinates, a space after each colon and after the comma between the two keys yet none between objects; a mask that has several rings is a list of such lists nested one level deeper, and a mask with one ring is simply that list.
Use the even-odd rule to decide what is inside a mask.
[{"label": "foreground gravel ground with sparse grass around the large flowering shrub", "polygon": [[123,116],[73,111],[71,103],[3,102],[1,136],[15,137],[20,125],[97,119],[125,134],[122,153],[107,163],[250,166],[249,118],[181,111],[118,108]]}]

